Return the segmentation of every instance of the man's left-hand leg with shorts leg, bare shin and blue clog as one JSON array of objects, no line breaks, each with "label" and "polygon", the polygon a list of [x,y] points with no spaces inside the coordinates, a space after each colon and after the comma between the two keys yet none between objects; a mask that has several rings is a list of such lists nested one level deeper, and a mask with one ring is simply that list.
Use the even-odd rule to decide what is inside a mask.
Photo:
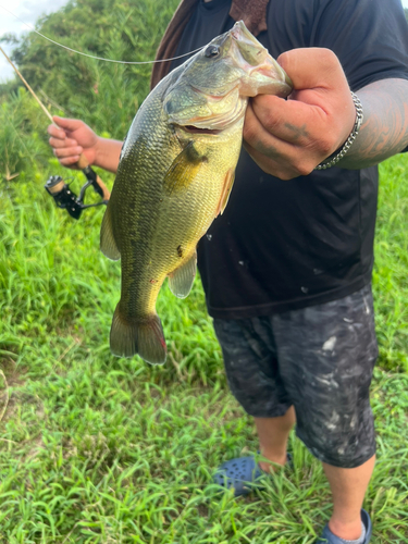
[{"label": "man's left-hand leg with shorts leg, bare shin and blue clog", "polygon": [[[284,465],[295,410],[280,378],[270,319],[214,319],[214,329],[231,392],[255,418],[261,454]],[[233,458],[219,467],[214,482],[225,489],[234,487],[236,496],[245,495],[250,492],[246,482],[254,483],[262,469],[270,472],[273,465],[261,461],[259,467],[254,456]]]}]

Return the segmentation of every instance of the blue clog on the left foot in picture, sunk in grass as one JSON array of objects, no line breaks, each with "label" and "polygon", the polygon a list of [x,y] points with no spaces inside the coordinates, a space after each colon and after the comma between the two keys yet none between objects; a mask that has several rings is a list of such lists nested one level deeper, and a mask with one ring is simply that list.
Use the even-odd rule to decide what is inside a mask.
[{"label": "blue clog on the left foot in picture, sunk in grass", "polygon": [[[290,456],[287,456],[290,462]],[[237,457],[223,462],[214,474],[214,483],[225,490],[234,487],[234,496],[248,495],[254,487],[260,487],[260,480],[269,475],[262,470],[254,457]]]}]

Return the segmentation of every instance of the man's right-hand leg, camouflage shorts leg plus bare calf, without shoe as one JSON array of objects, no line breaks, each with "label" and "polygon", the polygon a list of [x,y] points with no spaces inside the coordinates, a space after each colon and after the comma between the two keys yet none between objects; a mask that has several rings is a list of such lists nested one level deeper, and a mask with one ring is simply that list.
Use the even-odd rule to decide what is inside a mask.
[{"label": "man's right-hand leg, camouflage shorts leg plus bare calf, without shoe", "polygon": [[331,485],[329,530],[357,540],[375,462],[369,387],[378,348],[370,288],[273,316],[272,322],[280,375],[296,407],[297,435],[323,461]]}]

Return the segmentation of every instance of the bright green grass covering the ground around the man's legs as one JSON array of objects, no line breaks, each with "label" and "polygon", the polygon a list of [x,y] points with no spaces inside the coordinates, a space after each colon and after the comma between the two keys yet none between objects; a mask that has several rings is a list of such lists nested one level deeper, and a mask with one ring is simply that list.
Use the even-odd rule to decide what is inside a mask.
[{"label": "bright green grass covering the ground around the man's legs", "polygon": [[[381,166],[374,544],[408,540],[407,166]],[[162,289],[165,366],[112,357],[120,275],[98,249],[103,210],[74,222],[41,187],[63,171],[33,168],[0,186],[0,543],[311,544],[330,492],[295,436],[295,469],[264,490],[235,499],[211,483],[257,438],[227,392],[199,282],[184,301]]]}]

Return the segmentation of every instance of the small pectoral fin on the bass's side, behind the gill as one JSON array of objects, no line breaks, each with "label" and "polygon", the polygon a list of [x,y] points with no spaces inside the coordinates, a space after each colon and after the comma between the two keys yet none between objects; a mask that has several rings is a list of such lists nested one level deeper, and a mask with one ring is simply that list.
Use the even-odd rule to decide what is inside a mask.
[{"label": "small pectoral fin on the bass's side, behind the gill", "polygon": [[189,141],[172,162],[164,176],[164,190],[169,195],[186,189],[195,180],[206,158],[200,156]]}]

